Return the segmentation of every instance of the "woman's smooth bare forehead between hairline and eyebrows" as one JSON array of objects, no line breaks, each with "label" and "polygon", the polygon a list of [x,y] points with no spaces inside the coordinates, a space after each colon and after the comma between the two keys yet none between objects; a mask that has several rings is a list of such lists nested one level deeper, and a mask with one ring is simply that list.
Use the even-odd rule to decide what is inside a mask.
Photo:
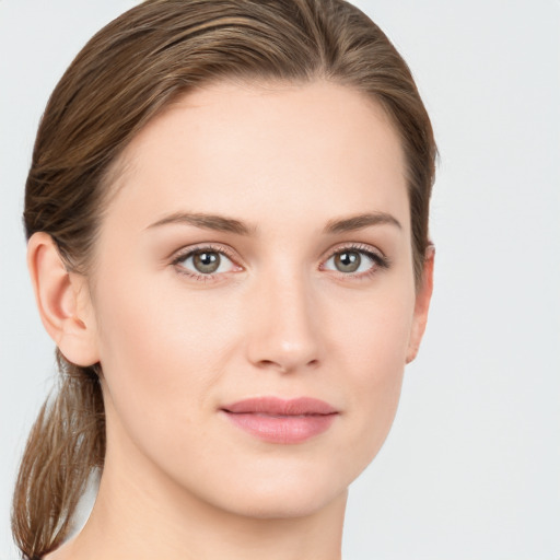
[{"label": "woman's smooth bare forehead between hairline and eyebrows", "polygon": [[404,160],[381,105],[349,88],[219,83],[179,97],[132,140],[109,210],[133,212],[139,226],[209,209],[269,223],[383,210],[407,223]]}]

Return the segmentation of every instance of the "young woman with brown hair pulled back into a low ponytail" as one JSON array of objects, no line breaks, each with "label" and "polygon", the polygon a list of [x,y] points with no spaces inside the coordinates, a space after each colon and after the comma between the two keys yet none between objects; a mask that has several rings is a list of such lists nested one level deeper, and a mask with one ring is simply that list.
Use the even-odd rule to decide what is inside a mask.
[{"label": "young woman with brown hair pulled back into a low ponytail", "polygon": [[62,381],[22,553],[340,558],[425,326],[434,158],[406,63],[343,1],[149,0],[95,35],[26,185]]}]

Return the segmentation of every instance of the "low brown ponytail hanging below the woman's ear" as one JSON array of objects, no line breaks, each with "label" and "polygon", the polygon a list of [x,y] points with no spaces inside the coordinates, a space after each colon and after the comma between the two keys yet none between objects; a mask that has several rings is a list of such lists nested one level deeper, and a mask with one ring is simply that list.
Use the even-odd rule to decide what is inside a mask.
[{"label": "low brown ponytail hanging below the woman's ear", "polygon": [[103,467],[105,413],[98,365],[79,368],[56,352],[60,386],[35,421],[15,485],[12,533],[27,558],[59,547],[92,470]]}]

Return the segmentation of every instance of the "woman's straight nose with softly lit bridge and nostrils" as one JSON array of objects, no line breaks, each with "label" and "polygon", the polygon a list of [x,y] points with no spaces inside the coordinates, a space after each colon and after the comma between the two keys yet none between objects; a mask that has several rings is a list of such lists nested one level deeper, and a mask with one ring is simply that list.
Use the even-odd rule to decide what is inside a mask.
[{"label": "woman's straight nose with softly lit bridge and nostrils", "polygon": [[270,275],[249,295],[247,358],[261,370],[289,373],[317,368],[322,345],[317,305],[302,275]]}]

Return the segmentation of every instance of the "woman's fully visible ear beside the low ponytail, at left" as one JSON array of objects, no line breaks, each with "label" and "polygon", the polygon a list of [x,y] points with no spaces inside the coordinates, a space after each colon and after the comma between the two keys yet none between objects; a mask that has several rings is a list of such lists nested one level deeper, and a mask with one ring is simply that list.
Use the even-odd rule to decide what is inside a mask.
[{"label": "woman's fully visible ear beside the low ponytail, at left", "polygon": [[62,355],[75,365],[100,361],[96,326],[85,278],[70,272],[52,237],[34,233],[27,243],[31,275],[40,319]]}]

